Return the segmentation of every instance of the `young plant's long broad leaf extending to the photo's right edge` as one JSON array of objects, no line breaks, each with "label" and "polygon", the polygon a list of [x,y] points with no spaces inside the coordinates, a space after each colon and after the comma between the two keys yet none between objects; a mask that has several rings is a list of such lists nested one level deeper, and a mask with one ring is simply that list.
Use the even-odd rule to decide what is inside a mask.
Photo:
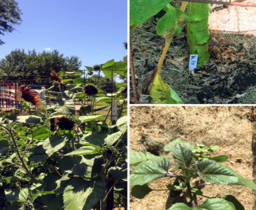
[{"label": "young plant's long broad leaf extending to the photo's right edge", "polygon": [[256,190],[256,184],[248,180],[228,166],[217,164],[216,161],[206,160],[197,163],[198,175],[208,182],[220,185],[244,185]]}]

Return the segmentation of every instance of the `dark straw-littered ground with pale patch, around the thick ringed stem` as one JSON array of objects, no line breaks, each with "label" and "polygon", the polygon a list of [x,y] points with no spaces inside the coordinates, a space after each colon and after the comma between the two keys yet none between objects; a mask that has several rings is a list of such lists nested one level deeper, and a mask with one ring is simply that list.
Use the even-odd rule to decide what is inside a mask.
[{"label": "dark straw-littered ground with pale patch, around the thick ringed stem", "polygon": [[[256,3],[256,0],[250,2]],[[178,2],[171,4],[177,8],[180,6]],[[228,14],[227,6],[212,5],[208,21],[210,42],[212,39],[217,42],[209,43],[209,46],[217,47],[217,51],[209,50],[210,62],[194,72],[188,71],[189,44],[186,24],[183,24],[181,34],[174,36],[167,52],[161,76],[185,104],[256,102],[255,14],[254,7],[234,6]],[[155,69],[164,49],[164,39],[156,34],[156,18],[161,18],[162,15],[163,12],[160,12],[131,31],[136,85]],[[251,30],[252,28],[255,30]],[[227,50],[228,54],[235,55],[235,59],[225,56],[218,59],[218,54]],[[173,60],[176,62],[173,63]],[[133,94],[130,96],[133,98]]]}]

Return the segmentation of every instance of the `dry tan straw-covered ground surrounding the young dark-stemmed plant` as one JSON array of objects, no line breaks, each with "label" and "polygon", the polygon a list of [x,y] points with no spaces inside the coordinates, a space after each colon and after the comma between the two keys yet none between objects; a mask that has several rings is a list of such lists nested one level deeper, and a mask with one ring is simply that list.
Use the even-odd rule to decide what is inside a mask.
[{"label": "dry tan straw-covered ground surrounding the young dark-stemmed plant", "polygon": [[[212,156],[227,155],[223,164],[256,183],[256,108],[251,106],[131,106],[130,151],[170,155],[164,145],[179,138],[191,145],[218,145]],[[173,162],[172,157],[170,160]],[[132,171],[135,167],[130,167]],[[169,171],[179,174],[172,166]],[[160,178],[151,189],[166,189],[173,178]],[[244,186],[206,185],[208,197],[233,195],[245,210],[256,210],[256,193]],[[130,197],[130,209],[166,210],[177,197],[169,191],[152,191],[145,198]],[[196,196],[201,205],[207,198]],[[187,199],[187,202],[190,200]]]}]

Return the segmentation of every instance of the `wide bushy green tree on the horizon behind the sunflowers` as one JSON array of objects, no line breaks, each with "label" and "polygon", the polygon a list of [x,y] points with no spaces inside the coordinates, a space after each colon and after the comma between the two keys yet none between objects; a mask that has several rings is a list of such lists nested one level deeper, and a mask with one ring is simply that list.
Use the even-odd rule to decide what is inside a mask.
[{"label": "wide bushy green tree on the horizon behind the sunflowers", "polygon": [[[21,83],[36,85],[44,85],[47,82],[50,85],[50,81],[41,76],[50,76],[52,71],[76,71],[81,64],[77,56],[65,58],[57,50],[37,54],[35,49],[28,53],[25,53],[24,49],[15,49],[0,60],[0,75],[15,75],[6,77],[6,80],[24,80]],[[27,75],[38,75],[38,77]],[[26,82],[28,80],[32,81]]]}]

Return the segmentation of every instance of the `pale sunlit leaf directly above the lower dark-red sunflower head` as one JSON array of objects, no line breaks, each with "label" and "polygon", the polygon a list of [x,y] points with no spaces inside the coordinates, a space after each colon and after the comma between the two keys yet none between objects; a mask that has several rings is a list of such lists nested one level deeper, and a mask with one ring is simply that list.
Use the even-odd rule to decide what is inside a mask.
[{"label": "pale sunlit leaf directly above the lower dark-red sunflower head", "polygon": [[75,115],[75,104],[72,99],[61,99],[59,102],[53,103],[52,108],[61,114]]}]

